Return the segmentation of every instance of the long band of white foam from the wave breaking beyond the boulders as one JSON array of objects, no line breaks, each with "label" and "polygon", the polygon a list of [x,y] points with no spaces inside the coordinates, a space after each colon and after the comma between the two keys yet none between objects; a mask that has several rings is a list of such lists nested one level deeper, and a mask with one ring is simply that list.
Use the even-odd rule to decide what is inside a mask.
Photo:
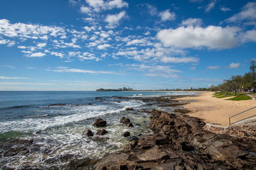
[{"label": "long band of white foam from the wave breaking beyond the boulders", "polygon": [[[53,114],[53,116],[44,114],[33,118],[25,118],[23,120],[0,122],[0,133],[8,132],[10,130],[20,132],[36,132],[51,127],[61,127],[67,125],[68,123],[124,111],[126,107],[138,107],[142,104],[143,102],[140,101],[129,100],[117,103],[116,105],[119,105],[119,107],[109,105],[84,105],[77,107],[66,107],[64,111],[61,111],[61,114],[66,116],[58,116],[60,114],[56,114],[56,111],[49,111],[51,114]],[[75,114],[70,114],[70,112],[74,112]]]}]

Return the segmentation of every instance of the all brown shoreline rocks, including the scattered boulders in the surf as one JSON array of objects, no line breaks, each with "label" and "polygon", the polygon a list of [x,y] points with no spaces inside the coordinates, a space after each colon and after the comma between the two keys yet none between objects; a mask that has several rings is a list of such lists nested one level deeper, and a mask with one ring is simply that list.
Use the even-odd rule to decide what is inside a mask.
[{"label": "all brown shoreline rocks, including the scattered boulders in the surf", "polygon": [[[248,137],[234,137],[215,134],[204,129],[204,121],[186,115],[186,109],[176,108],[180,103],[177,97],[113,97],[114,100],[141,100],[146,105],[156,105],[161,110],[148,109],[129,112],[147,112],[150,116],[149,128],[154,134],[127,137],[131,141],[123,150],[109,153],[100,160],[91,158],[74,159],[66,155],[51,161],[68,162],[63,166],[47,169],[255,169],[256,140]],[[102,100],[102,98],[97,98]],[[170,107],[172,111],[170,112]],[[176,109],[174,109],[175,107]],[[120,118],[129,125],[130,120]],[[95,122],[104,127],[104,120]],[[96,125],[96,124],[95,124]],[[139,125],[136,125],[139,126]],[[127,126],[128,127],[128,126]],[[133,128],[133,127],[131,127]],[[102,134],[108,133],[102,129]],[[85,131],[86,134],[88,131]],[[100,131],[101,132],[101,131]],[[97,132],[97,133],[100,133]],[[93,132],[88,134],[93,135]],[[99,142],[105,137],[98,137]],[[129,135],[124,135],[129,136]],[[92,140],[95,140],[92,138]],[[26,155],[33,141],[12,139],[0,143],[0,157]],[[35,148],[36,149],[36,148]],[[12,169],[3,167],[3,169]],[[20,169],[45,169],[40,166],[23,166]]]}]

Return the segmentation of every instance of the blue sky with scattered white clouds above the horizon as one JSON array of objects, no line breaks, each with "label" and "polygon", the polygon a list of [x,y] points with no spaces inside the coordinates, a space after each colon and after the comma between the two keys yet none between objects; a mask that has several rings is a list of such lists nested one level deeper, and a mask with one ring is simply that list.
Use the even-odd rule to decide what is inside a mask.
[{"label": "blue sky with scattered white clouds above the horizon", "polygon": [[256,58],[256,1],[0,4],[0,90],[207,88]]}]

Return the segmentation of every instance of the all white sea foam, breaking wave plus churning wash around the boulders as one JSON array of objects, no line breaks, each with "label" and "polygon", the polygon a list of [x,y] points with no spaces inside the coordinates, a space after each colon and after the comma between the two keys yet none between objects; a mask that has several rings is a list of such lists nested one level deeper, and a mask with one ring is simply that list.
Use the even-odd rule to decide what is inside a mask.
[{"label": "all white sea foam, breaking wave plus churning wash around the boulders", "polygon": [[[50,167],[52,166],[52,164],[45,162],[45,160],[49,158],[58,158],[61,157],[61,155],[76,155],[77,158],[101,158],[106,153],[111,153],[113,151],[119,150],[122,148],[123,144],[127,143],[125,137],[122,137],[122,134],[125,131],[129,130],[131,132],[131,135],[134,132],[139,132],[141,134],[145,132],[145,128],[143,128],[141,125],[136,127],[136,124],[134,124],[134,128],[131,129],[119,123],[120,117],[122,117],[123,114],[131,118],[132,122],[140,123],[140,121],[136,121],[136,118],[143,119],[143,113],[134,115],[130,112],[124,113],[120,111],[124,111],[126,107],[140,107],[140,105],[143,104],[143,102],[136,100],[125,100],[120,103],[112,103],[111,105],[86,105],[83,107],[70,107],[69,111],[77,112],[77,114],[58,116],[55,118],[47,117],[46,119],[29,118],[23,120],[22,123],[18,121],[9,122],[9,124],[13,123],[12,126],[15,125],[15,123],[19,123],[15,125],[15,127],[26,127],[26,123],[29,123],[29,127],[33,127],[33,130],[41,130],[42,128],[47,128],[51,126],[54,127],[55,125],[60,126],[61,123],[65,125],[65,123],[71,121],[79,121],[83,120],[84,118],[90,118],[90,116],[95,117],[102,115],[104,120],[107,120],[109,125],[106,127],[108,134],[106,136],[100,136],[108,137],[108,139],[106,139],[106,141],[104,141],[103,143],[93,141],[92,139],[89,139],[88,137],[82,135],[83,131],[88,128],[93,132],[99,130],[98,128],[93,127],[92,123],[76,123],[74,124],[74,126],[60,126],[58,128],[47,128],[45,130],[42,130],[42,132],[40,133],[35,132],[33,133],[33,135],[31,135],[31,138],[34,140],[33,144],[37,145],[35,147],[40,146],[40,150],[31,151],[25,156],[10,158],[10,164],[8,165],[10,167],[18,167],[18,169],[21,164],[40,164],[42,166]],[[116,112],[116,114],[111,114],[113,112]],[[109,116],[106,116],[106,114],[109,114]],[[145,113],[145,115],[147,114]],[[28,126],[26,128],[28,128]],[[95,135],[95,137],[97,137],[97,135]],[[47,154],[44,154],[45,151],[47,151]],[[57,161],[53,164],[54,166],[60,166],[65,163],[67,162]]]}]

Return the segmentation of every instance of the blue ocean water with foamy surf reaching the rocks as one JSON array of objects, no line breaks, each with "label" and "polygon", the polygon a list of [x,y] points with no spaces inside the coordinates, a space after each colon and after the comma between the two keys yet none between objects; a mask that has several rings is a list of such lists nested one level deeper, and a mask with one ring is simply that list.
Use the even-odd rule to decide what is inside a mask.
[{"label": "blue ocean water with foamy surf reaching the rocks", "polygon": [[[148,113],[134,114],[125,108],[153,109],[154,105],[115,97],[190,94],[164,91],[0,91],[0,141],[15,137],[34,141],[28,154],[0,158],[0,167],[51,167],[56,166],[56,159],[58,164],[66,164],[68,160],[61,160],[65,155],[70,158],[101,158],[106,153],[120,150],[128,142],[122,137],[125,131],[136,136],[152,133],[148,128]],[[130,118],[134,127],[120,125],[122,116]],[[93,132],[100,129],[92,126],[96,118],[107,121],[108,134],[100,136],[100,140],[83,135],[86,129]]]}]

